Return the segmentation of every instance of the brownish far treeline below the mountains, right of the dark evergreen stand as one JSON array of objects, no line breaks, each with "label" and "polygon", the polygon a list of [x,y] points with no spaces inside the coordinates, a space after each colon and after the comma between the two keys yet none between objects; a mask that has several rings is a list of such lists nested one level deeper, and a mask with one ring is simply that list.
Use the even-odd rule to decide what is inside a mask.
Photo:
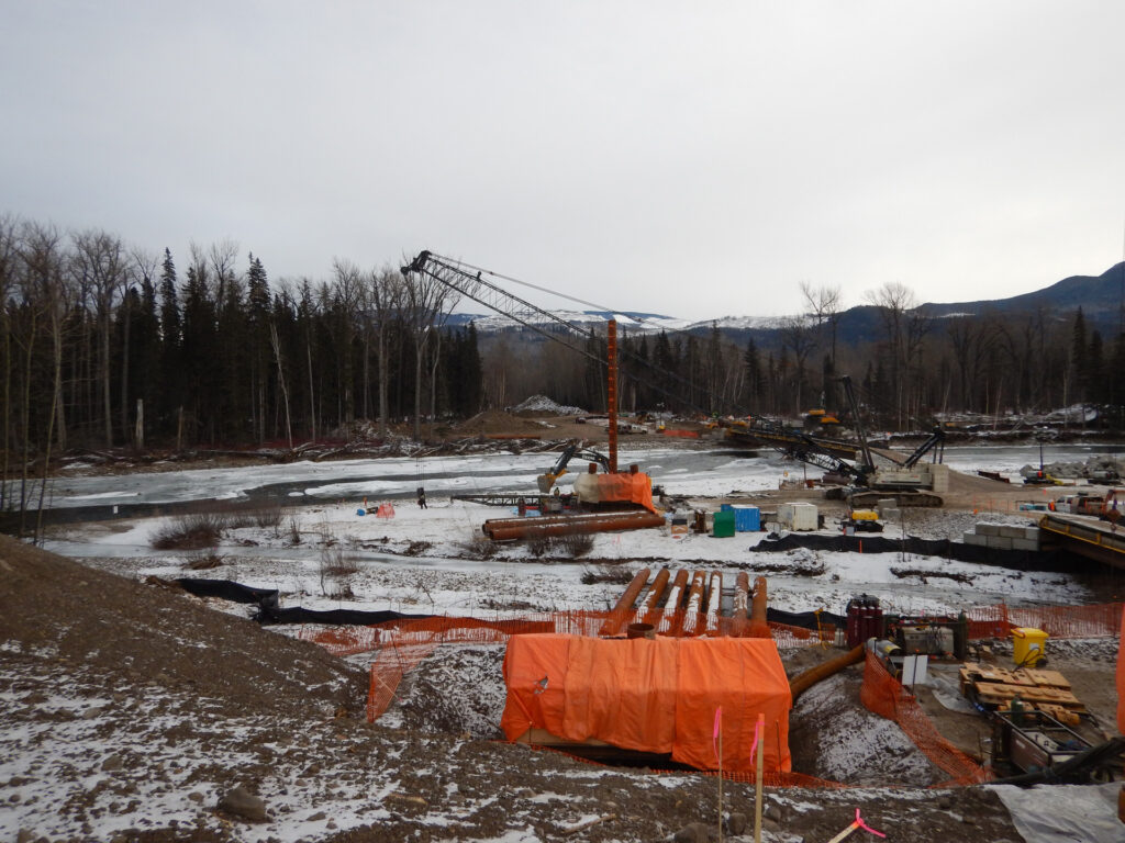
[{"label": "brownish far treeline below the mountains, right of the dark evergreen stand", "polygon": [[[807,312],[782,319],[736,346],[718,328],[669,336],[626,335],[624,409],[666,407],[705,414],[796,417],[812,407],[847,413],[839,378],[852,377],[867,423],[886,430],[926,429],[940,413],[1030,414],[1098,405],[1120,429],[1125,336],[1107,342],[1070,311],[987,311],[933,317],[899,283],[866,294],[879,338],[844,345],[836,288],[802,285]],[[604,387],[530,332],[483,339],[485,390],[497,404],[536,391],[586,407],[604,405]]]}]

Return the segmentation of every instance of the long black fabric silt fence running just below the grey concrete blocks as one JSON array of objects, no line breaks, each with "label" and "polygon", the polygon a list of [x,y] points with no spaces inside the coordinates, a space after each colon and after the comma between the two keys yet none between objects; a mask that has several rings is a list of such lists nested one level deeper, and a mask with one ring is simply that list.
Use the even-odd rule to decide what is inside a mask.
[{"label": "long black fabric silt fence running just below the grey concrete blocks", "polygon": [[948,538],[884,538],[883,536],[826,536],[789,533],[780,538],[763,538],[753,545],[754,552],[793,551],[808,547],[813,551],[846,551],[848,553],[914,553],[918,556],[940,556],[958,562],[979,562],[1001,565],[1017,571],[1063,571],[1068,565],[1056,551],[1006,551],[964,544]]}]

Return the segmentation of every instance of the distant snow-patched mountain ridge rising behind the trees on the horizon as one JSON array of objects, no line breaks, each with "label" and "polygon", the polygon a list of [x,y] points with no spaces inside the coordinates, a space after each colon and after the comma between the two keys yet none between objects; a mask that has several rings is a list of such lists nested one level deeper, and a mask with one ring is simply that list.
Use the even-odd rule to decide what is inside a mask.
[{"label": "distant snow-patched mountain ridge rising behind the trees on the horizon", "polygon": [[[1100,275],[1071,275],[1034,292],[1007,299],[981,299],[948,303],[926,302],[919,310],[935,318],[979,316],[986,312],[1010,315],[1043,309],[1054,318],[1066,318],[1079,307],[1092,327],[1116,333],[1118,318],[1125,306],[1125,261],[1110,266]],[[640,310],[554,310],[556,316],[575,325],[602,324],[614,317],[620,328],[630,334],[666,332],[703,333],[718,327],[728,338],[745,342],[747,337],[765,341],[776,335],[783,319],[765,316],[721,316],[692,321],[664,314]],[[474,323],[478,332],[500,333],[521,329],[520,323],[498,314],[453,314],[448,320],[452,327]],[[528,314],[528,321],[549,327],[551,323],[538,314]],[[839,315],[837,327],[840,342],[854,343],[874,339],[881,330],[878,308],[858,305]]]}]

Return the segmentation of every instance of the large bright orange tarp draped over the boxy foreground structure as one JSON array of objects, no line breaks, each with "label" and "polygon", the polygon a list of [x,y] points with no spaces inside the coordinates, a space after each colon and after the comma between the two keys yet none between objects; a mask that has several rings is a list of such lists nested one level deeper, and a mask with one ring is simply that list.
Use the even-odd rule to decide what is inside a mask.
[{"label": "large bright orange tarp draped over the boxy foreground structure", "polygon": [[789,680],[764,638],[592,638],[515,635],[504,656],[510,741],[542,728],[564,741],[604,741],[718,768],[716,709],[722,708],[722,769],[754,770],[750,747],[765,714],[765,769],[790,771]]}]

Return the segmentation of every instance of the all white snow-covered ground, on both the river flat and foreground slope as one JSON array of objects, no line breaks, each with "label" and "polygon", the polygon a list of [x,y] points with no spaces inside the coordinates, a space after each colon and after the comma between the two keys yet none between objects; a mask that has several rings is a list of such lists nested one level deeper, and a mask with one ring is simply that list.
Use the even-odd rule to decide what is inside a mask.
[{"label": "all white snow-covered ground, on both the river flat and foreground slope", "polygon": [[[1086,446],[1052,447],[1045,450],[1044,457],[1046,461],[1076,460],[1083,454],[1099,453],[1106,451]],[[946,462],[969,472],[987,469],[1014,477],[1022,465],[1037,461],[1037,446],[946,450]],[[413,459],[364,460],[63,479],[53,486],[56,507],[222,499],[263,505],[276,501],[286,509],[276,527],[233,528],[214,551],[153,550],[153,537],[178,517],[166,515],[55,527],[46,547],[129,577],[206,577],[278,589],[282,606],[477,617],[608,608],[620,596],[623,586],[586,584],[582,580],[584,573],[610,563],[630,570],[642,565],[719,570],[724,572],[728,582],[726,578],[732,580],[738,570],[763,572],[768,580],[770,604],[791,610],[843,611],[846,601],[858,592],[880,597],[888,611],[910,613],[945,613],[1000,600],[1016,605],[1073,604],[1088,597],[1077,579],[1059,573],[1020,573],[899,553],[752,552],[749,547],[759,543],[763,534],[737,534],[734,538],[691,534],[675,537],[667,528],[657,528],[594,536],[591,552],[577,560],[552,553],[537,558],[522,544],[504,546],[494,555],[487,555],[480,525],[486,518],[504,517],[510,513],[452,501],[449,495],[501,490],[531,493],[534,477],[550,462],[550,455],[543,454],[502,454],[428,460],[422,466]],[[727,496],[735,490],[776,491],[786,472],[791,478],[803,475],[800,463],[770,452],[747,456],[718,448],[647,448],[627,452],[622,462],[641,463],[669,493],[694,498],[712,508],[713,501],[705,500],[709,497]],[[424,481],[429,493],[428,509],[420,509],[413,501],[420,481]],[[375,511],[386,501],[393,504],[394,517],[358,514],[361,508],[364,513]],[[1027,520],[1017,516],[992,515],[989,518],[1012,523]],[[960,536],[966,519],[971,522],[973,516],[948,516],[952,537]],[[889,527],[884,535],[894,537],[900,532],[898,527]],[[217,566],[191,570],[190,565],[205,555],[214,556]],[[340,561],[351,563],[354,572],[332,574],[325,571]],[[904,575],[897,574],[897,570]],[[246,611],[240,606],[223,608]],[[421,707],[418,700],[430,700],[434,695],[404,691],[403,699],[380,725],[412,736],[410,740],[414,743],[410,744],[410,752],[414,755],[406,758],[399,749],[370,753],[364,749],[367,743],[350,733],[338,735],[331,720],[314,729],[296,722],[267,722],[260,717],[223,724],[209,711],[195,711],[190,696],[171,691],[154,691],[145,699],[145,705],[158,716],[152,724],[136,728],[130,720],[133,700],[128,695],[115,697],[102,686],[87,682],[81,672],[66,677],[63,687],[53,659],[50,664],[37,667],[29,653],[11,650],[6,656],[14,662],[12,677],[27,680],[25,688],[12,679],[10,689],[0,697],[10,706],[8,745],[18,750],[11,760],[0,764],[0,771],[9,779],[9,789],[19,791],[21,800],[18,806],[9,807],[7,816],[0,810],[0,830],[9,836],[15,836],[25,824],[54,836],[75,836],[87,834],[88,830],[111,835],[116,830],[136,825],[137,817],[144,818],[141,825],[156,823],[158,817],[160,822],[174,819],[187,833],[191,825],[200,822],[201,815],[210,815],[204,806],[213,806],[219,797],[213,782],[222,780],[220,767],[237,771],[268,768],[261,777],[271,821],[249,826],[240,839],[316,839],[338,828],[386,822],[390,812],[384,803],[393,806],[394,803],[388,801],[393,796],[400,790],[410,792],[404,781],[432,776],[441,763],[459,751],[460,738],[451,747],[441,744],[438,750],[444,754],[432,761],[432,769],[429,760],[418,768],[415,756],[422,751],[420,747],[433,741],[429,737],[415,740],[413,735],[424,735],[431,729],[458,734],[464,729],[474,736],[492,736],[489,725],[495,725],[495,713],[501,705],[498,647],[443,649],[413,681],[472,688],[478,705],[476,708],[458,707],[458,700],[464,697],[460,695],[452,697],[449,710]],[[367,655],[357,656],[357,663],[368,659]],[[33,676],[36,670],[43,676]],[[53,688],[52,692],[38,696],[32,687],[36,685],[33,679],[37,681],[36,687]],[[832,683],[826,683],[810,691],[801,706],[812,709],[811,714],[821,719],[829,717],[831,711],[826,700],[832,692]],[[824,715],[817,715],[819,708],[825,708]],[[119,715],[115,714],[118,709]],[[178,725],[184,722],[191,722],[194,731]],[[458,728],[451,729],[451,723]],[[202,732],[215,735],[206,751],[197,740],[197,733]],[[863,770],[856,764],[868,755],[848,754],[840,749],[845,738],[860,732],[873,736],[865,744],[871,753],[891,754],[897,759],[894,769],[901,781],[928,783],[926,770],[896,727],[865,713],[840,716],[832,728],[826,729],[820,747],[825,754],[824,774],[865,781]],[[325,755],[325,746],[331,746],[331,756]],[[497,769],[506,760],[498,752]],[[308,772],[314,762],[332,769],[331,788]],[[160,767],[155,773],[152,772],[153,763]],[[534,763],[546,765],[540,761]],[[569,780],[576,782],[576,787],[593,791],[603,780],[614,776],[618,773],[582,765],[568,769],[558,780]],[[613,779],[614,787],[622,792],[628,788],[630,794],[649,790],[663,794],[673,788],[686,788],[692,781],[670,776]],[[57,782],[69,783],[60,786]],[[521,797],[524,803],[556,798],[546,783],[531,783],[537,792]],[[456,791],[458,785],[449,787]],[[487,807],[497,798],[495,789],[470,790],[464,782],[460,787],[458,807],[433,821],[451,826],[450,839],[459,836],[456,823],[468,816],[470,808]],[[892,796],[892,791],[879,791],[881,803]],[[811,796],[789,792],[771,797],[774,803],[786,805],[798,799],[810,800],[808,808],[793,808],[809,812],[822,810],[836,798],[831,794],[817,794],[811,801]],[[845,794],[839,798],[855,797]],[[698,795],[693,792],[692,799],[698,800]],[[1042,804],[1050,803],[1051,813],[1062,815],[1060,805],[1051,799],[1052,795],[1045,794]],[[555,822],[560,830],[606,813],[600,803],[587,805],[573,795],[558,796],[556,801],[554,808],[558,816]],[[65,816],[60,806],[66,809]],[[1101,813],[1108,816],[1107,812]],[[83,822],[88,825],[83,826]],[[516,826],[526,831],[516,830]],[[561,836],[564,832],[558,834]],[[520,814],[514,819],[506,817],[495,836],[474,835],[472,839],[532,841],[542,836],[530,819]],[[632,837],[623,833],[620,839]],[[1029,834],[1028,839],[1051,837]]]}]

